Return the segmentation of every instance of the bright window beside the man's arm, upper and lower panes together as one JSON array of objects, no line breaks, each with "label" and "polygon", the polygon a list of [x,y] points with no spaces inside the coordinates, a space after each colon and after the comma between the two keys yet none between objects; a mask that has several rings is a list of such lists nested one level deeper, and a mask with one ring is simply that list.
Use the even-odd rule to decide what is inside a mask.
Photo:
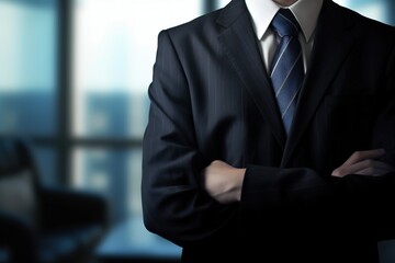
[{"label": "bright window beside the man's arm, upper and lower panes together", "polygon": [[204,7],[202,0],[75,1],[72,184],[104,193],[113,221],[142,214],[142,139],[158,33]]}]

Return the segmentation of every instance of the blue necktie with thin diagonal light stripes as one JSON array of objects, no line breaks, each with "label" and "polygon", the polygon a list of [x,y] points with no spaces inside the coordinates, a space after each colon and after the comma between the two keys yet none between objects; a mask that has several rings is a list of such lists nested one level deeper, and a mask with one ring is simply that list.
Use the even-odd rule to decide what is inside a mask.
[{"label": "blue necktie with thin diagonal light stripes", "polygon": [[302,48],[298,42],[300,25],[289,9],[280,9],[271,26],[281,41],[273,57],[270,77],[284,128],[289,134],[304,79]]}]

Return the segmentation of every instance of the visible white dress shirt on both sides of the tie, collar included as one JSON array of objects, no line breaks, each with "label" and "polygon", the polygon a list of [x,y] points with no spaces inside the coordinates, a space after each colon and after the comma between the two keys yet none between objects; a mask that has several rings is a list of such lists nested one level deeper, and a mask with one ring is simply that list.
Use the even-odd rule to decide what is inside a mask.
[{"label": "visible white dress shirt on both sides of the tie, collar included", "polygon": [[[294,4],[286,7],[295,15],[302,28],[298,38],[302,45],[305,72],[313,49],[314,32],[323,1],[298,0]],[[260,41],[264,66],[269,72],[275,48],[280,43],[278,35],[270,28],[270,23],[279,9],[284,7],[281,7],[273,0],[246,0],[246,4],[251,14],[253,30]]]}]

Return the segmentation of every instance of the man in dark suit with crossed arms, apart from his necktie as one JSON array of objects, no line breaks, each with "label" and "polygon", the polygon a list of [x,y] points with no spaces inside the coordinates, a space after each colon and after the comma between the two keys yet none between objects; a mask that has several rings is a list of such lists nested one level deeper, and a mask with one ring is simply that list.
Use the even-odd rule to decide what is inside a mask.
[{"label": "man in dark suit with crossed arms, apart from his necktie", "polygon": [[[280,8],[303,83],[270,77]],[[183,262],[370,262],[394,238],[395,30],[331,0],[233,0],[159,34],[142,197]]]}]

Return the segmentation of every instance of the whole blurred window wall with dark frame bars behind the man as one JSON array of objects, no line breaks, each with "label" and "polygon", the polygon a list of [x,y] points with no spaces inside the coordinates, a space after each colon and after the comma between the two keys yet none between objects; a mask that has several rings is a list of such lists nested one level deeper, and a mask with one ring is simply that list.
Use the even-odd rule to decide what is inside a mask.
[{"label": "whole blurred window wall with dark frame bars behind the man", "polygon": [[[0,134],[34,142],[42,181],[142,218],[142,138],[157,34],[229,0],[0,0]],[[395,25],[392,0],[337,0]]]}]

